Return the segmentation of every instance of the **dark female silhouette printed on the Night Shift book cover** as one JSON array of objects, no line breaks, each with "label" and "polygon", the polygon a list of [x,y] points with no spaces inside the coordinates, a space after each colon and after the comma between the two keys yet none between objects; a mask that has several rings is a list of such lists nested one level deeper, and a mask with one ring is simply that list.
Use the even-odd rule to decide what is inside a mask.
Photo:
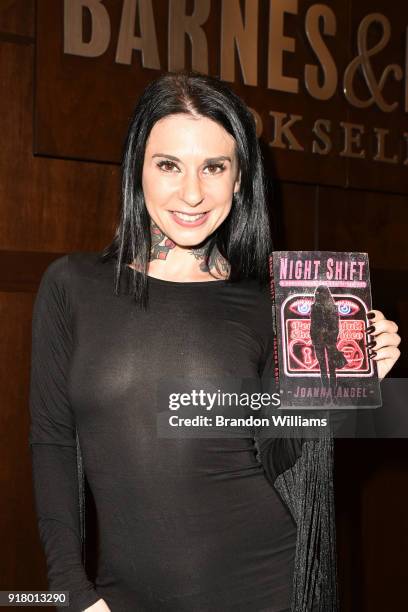
[{"label": "dark female silhouette printed on the Night Shift book cover", "polygon": [[336,303],[329,287],[319,285],[310,312],[310,337],[319,361],[322,385],[331,388],[333,397],[336,393],[336,368],[341,369],[347,363],[337,348],[338,335],[339,313]]}]

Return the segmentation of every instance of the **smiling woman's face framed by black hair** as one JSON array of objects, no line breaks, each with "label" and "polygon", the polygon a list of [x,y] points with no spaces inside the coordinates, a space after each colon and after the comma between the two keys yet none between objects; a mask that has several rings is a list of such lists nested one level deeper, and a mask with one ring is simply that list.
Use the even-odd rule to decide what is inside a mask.
[{"label": "smiling woman's face framed by black hair", "polygon": [[142,186],[147,211],[177,246],[193,247],[228,216],[239,190],[234,138],[215,121],[169,115],[146,143]]}]

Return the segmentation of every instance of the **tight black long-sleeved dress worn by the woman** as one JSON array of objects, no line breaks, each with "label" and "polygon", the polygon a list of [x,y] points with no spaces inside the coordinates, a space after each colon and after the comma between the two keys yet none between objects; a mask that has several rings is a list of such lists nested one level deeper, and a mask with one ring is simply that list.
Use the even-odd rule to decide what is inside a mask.
[{"label": "tight black long-sleeved dress worn by the woman", "polygon": [[[35,301],[29,442],[49,588],[70,592],[70,610],[103,597],[113,612],[288,611],[296,525],[252,430],[158,431],[166,389],[259,390],[272,377],[268,289],[149,278],[143,312],[113,294],[113,273],[97,253],[60,257]],[[75,424],[97,510],[95,584],[81,564]]]}]

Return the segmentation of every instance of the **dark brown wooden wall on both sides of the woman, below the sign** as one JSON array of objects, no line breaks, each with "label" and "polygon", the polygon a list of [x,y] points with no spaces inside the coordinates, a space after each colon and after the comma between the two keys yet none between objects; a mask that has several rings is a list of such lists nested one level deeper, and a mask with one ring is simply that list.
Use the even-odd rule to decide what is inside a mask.
[{"label": "dark brown wooden wall on both sides of the woman, below the sign", "polygon": [[[97,250],[110,240],[119,206],[117,165],[33,155],[34,4],[0,0],[2,590],[46,589],[28,446],[33,298],[53,258]],[[273,167],[273,153],[265,154]],[[367,251],[374,307],[398,322],[403,339],[408,336],[406,195],[276,180],[271,205],[276,248]],[[401,349],[395,374],[407,376],[405,341]],[[344,612],[408,605],[407,448],[406,440],[336,441]]]}]

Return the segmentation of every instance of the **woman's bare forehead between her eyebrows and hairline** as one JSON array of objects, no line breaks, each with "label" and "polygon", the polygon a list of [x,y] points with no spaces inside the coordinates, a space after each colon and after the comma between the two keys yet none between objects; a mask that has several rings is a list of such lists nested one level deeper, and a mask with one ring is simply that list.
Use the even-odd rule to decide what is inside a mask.
[{"label": "woman's bare forehead between her eyebrows and hairline", "polygon": [[219,123],[208,117],[188,114],[168,115],[157,121],[146,143],[146,151],[160,147],[162,153],[216,156],[233,155],[235,139]]}]

